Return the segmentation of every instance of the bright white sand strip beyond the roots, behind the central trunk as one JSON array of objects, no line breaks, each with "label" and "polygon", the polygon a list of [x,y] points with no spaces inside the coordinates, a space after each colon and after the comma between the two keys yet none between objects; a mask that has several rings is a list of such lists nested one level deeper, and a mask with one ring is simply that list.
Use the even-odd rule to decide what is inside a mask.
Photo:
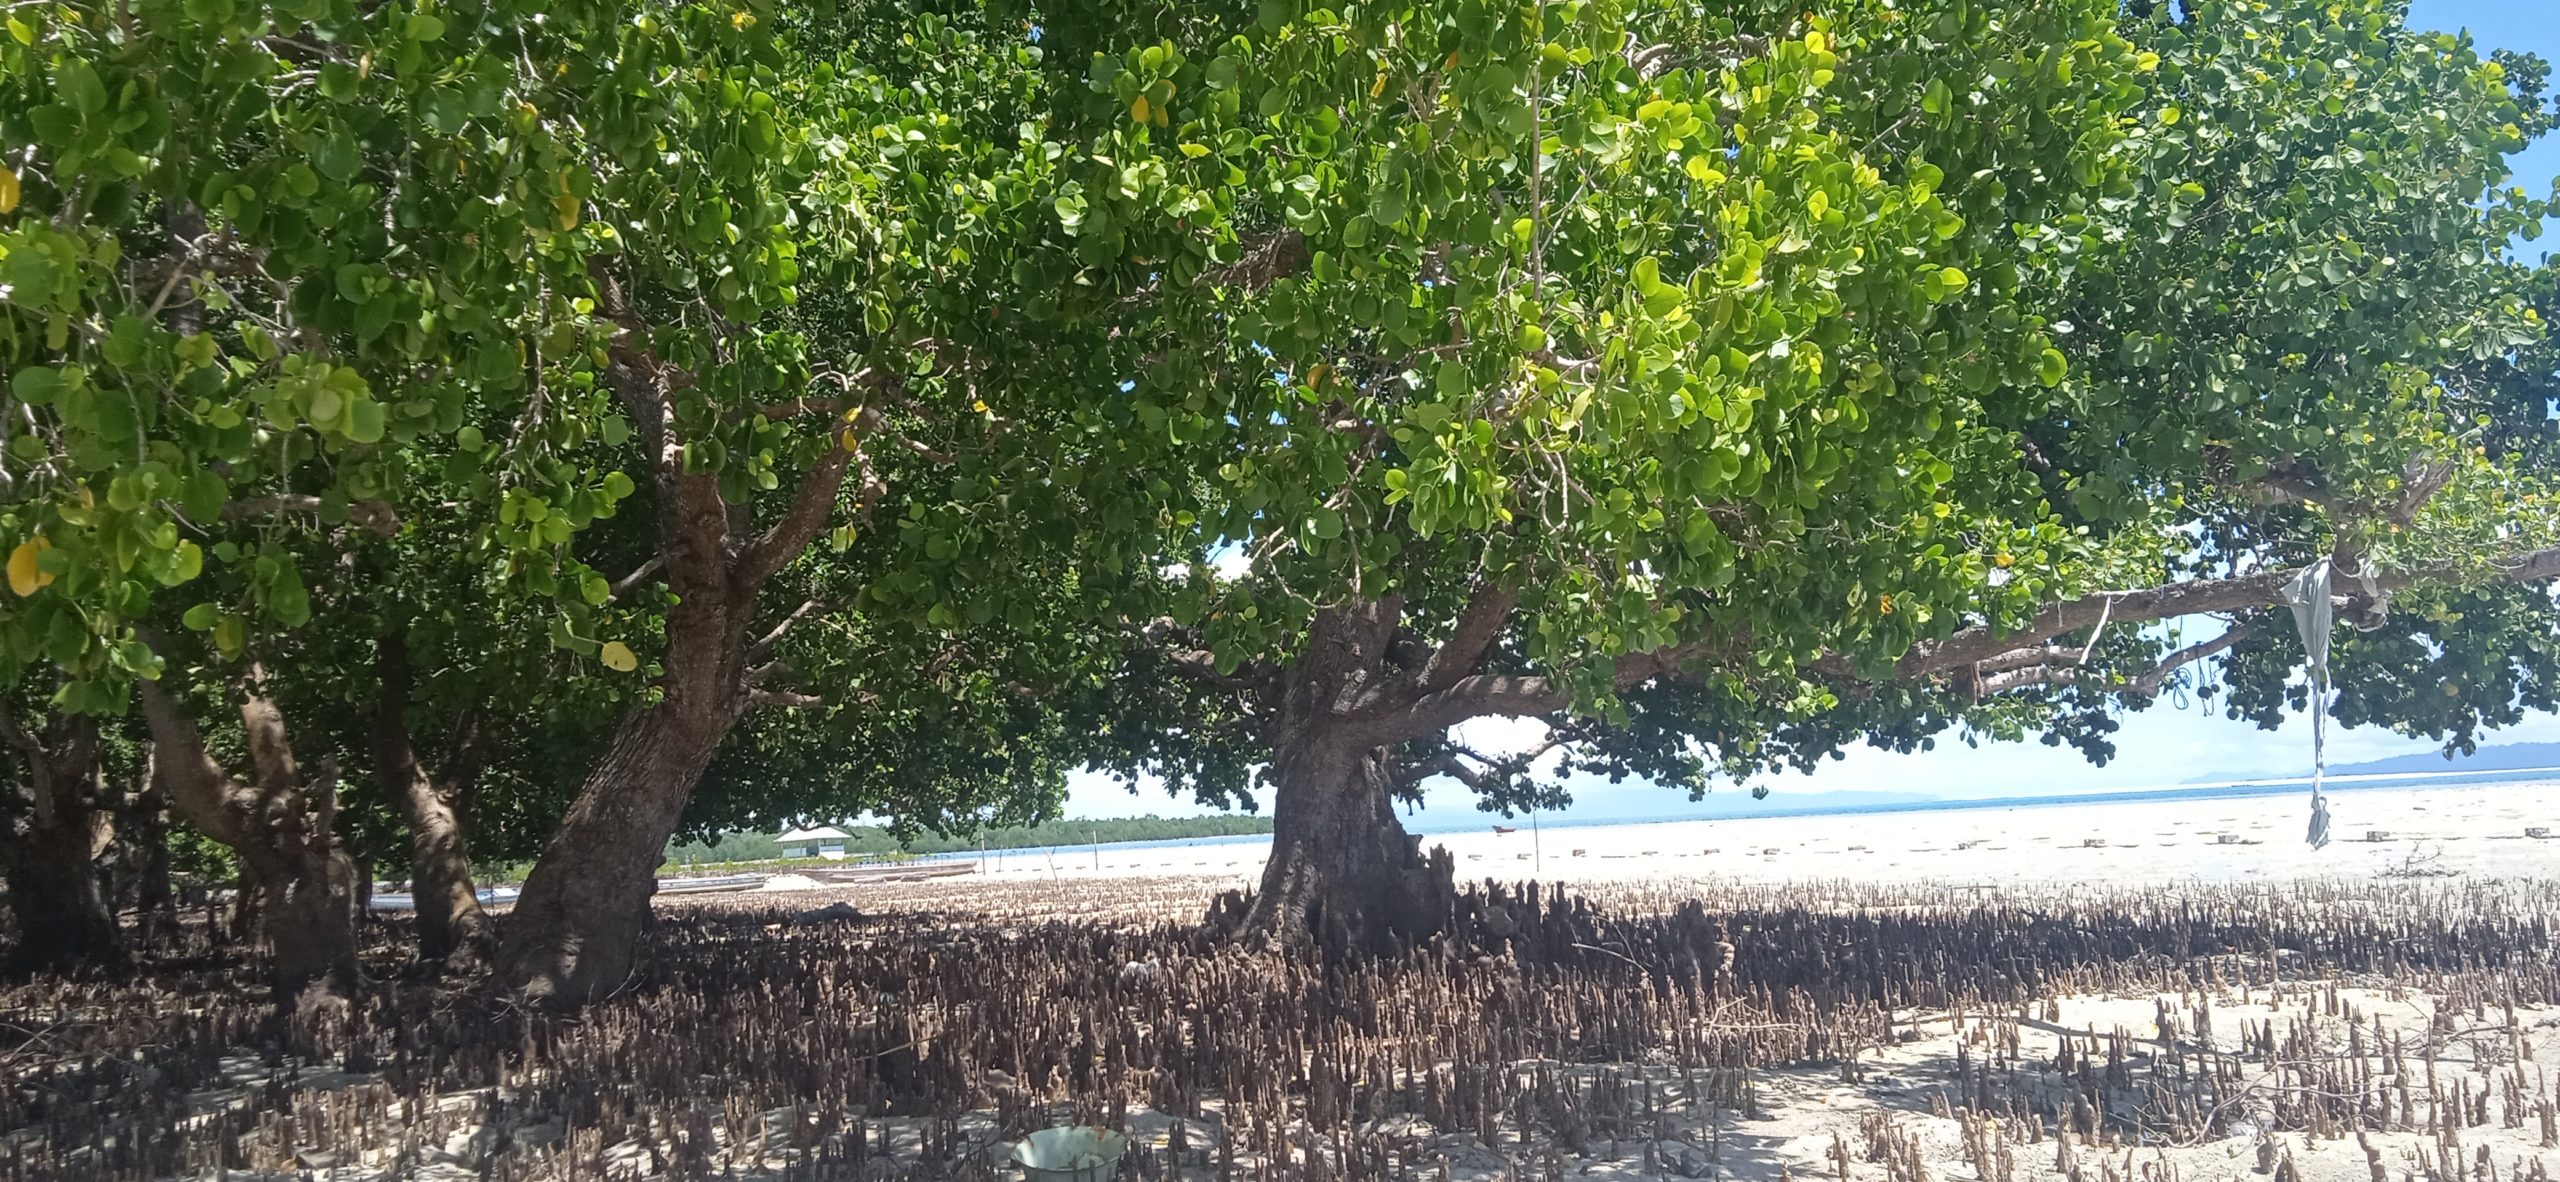
[{"label": "bright white sand strip beyond the roots, behind the central trunk", "polygon": [[[2560,780],[2360,788],[2330,796],[2327,849],[2304,842],[2309,796],[2043,803],[1905,814],[1541,826],[1423,837],[1459,880],[1546,883],[2240,883],[2560,872]],[[1495,834],[1492,826],[1518,826]],[[2547,829],[2552,839],[2532,839]],[[1208,878],[1249,885],[1270,842],[988,852],[993,878]]]}]

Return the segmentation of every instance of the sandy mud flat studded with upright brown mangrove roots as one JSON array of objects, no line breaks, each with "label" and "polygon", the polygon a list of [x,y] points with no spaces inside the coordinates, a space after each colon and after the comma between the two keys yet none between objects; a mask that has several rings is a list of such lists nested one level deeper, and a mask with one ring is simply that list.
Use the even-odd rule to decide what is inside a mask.
[{"label": "sandy mud flat studded with upright brown mangrove roots", "polygon": [[[617,998],[402,977],[279,1018],[236,954],[0,990],[0,1179],[2542,1182],[2560,885],[1480,885],[1308,957],[1216,883],[671,901]],[[827,903],[827,906],[822,906]]]}]

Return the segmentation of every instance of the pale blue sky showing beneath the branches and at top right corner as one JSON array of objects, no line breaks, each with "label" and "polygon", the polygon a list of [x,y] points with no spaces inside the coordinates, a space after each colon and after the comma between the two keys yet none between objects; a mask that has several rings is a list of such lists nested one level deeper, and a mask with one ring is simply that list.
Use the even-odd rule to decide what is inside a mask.
[{"label": "pale blue sky showing beneath the branches and at top right corner", "polygon": [[[2417,0],[2409,10],[2417,28],[2470,31],[2481,54],[2491,49],[2519,49],[2560,61],[2560,0]],[[2527,192],[2547,192],[2560,177],[2560,136],[2547,136],[2516,159],[2516,184]],[[2560,246],[2552,238],[2532,251]],[[2212,624],[2207,624],[2212,627]],[[1469,739],[1480,747],[1518,750],[1533,742],[1536,724],[1475,721]],[[1772,775],[1766,780],[1772,803],[1820,803],[1812,796],[1838,791],[1889,791],[1956,798],[2045,796],[2066,791],[2102,788],[2156,788],[2199,778],[2250,778],[2296,775],[2312,765],[2309,719],[2289,719],[2284,729],[2260,732],[2245,721],[2230,721],[2202,709],[2179,711],[2171,704],[2125,716],[2117,732],[2117,757],[2107,768],[2089,768],[2076,750],[2025,745],[1964,747],[1943,737],[1935,752],[1892,755],[1869,747],[1851,750],[1846,760],[1828,762],[1812,775]],[[2560,719],[2534,716],[2524,727],[2496,732],[2488,742],[2560,742]],[[2330,762],[2381,760],[2388,755],[2427,752],[2424,739],[2401,739],[2388,732],[2332,732]],[[1677,814],[1687,803],[1682,793],[1646,783],[1574,783],[1574,808],[1567,816],[1656,816]],[[1741,793],[1746,785],[1718,788]],[[1201,814],[1190,801],[1175,801],[1160,791],[1129,791],[1098,775],[1075,775],[1068,793],[1068,816],[1132,816],[1132,814]],[[1475,814],[1464,788],[1441,780],[1426,791],[1423,824],[1452,824]]]}]

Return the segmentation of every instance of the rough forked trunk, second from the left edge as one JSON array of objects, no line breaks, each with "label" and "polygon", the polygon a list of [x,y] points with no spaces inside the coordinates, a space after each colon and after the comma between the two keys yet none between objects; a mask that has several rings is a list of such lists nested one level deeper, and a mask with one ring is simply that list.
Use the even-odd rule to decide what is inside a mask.
[{"label": "rough forked trunk, second from the left edge", "polygon": [[233,778],[205,750],[205,734],[151,681],[141,683],[143,721],[159,745],[169,801],[205,837],[241,857],[241,895],[256,898],[269,982],[287,1005],[307,995],[356,990],[356,865],[338,847],[338,765],[310,778],[294,765],[284,714],[264,696],[256,665],[241,686],[248,778]]}]

